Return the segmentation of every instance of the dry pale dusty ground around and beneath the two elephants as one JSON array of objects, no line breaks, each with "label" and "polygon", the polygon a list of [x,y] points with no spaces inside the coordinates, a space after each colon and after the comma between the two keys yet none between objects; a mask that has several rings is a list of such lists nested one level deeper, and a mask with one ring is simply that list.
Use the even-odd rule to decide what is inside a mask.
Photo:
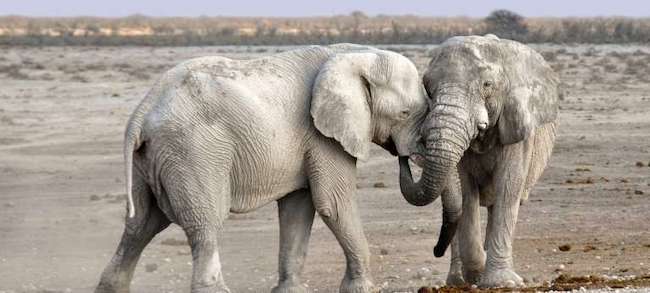
[{"label": "dry pale dusty ground around and beneath the two elephants", "polygon": [[[573,275],[650,273],[650,47],[535,46],[564,81],[554,156],[520,211],[515,265],[531,284]],[[392,46],[423,70],[427,47]],[[0,48],[0,292],[90,292],[125,212],[126,119],[164,70],[196,56],[248,58],[286,48]],[[376,283],[385,292],[441,284],[432,255],[440,203],[400,196],[397,162],[377,148],[359,164],[359,202]],[[270,204],[225,224],[221,255],[233,292],[276,281]],[[562,249],[560,249],[560,247]],[[182,231],[145,250],[133,292],[187,292]],[[305,282],[335,292],[344,258],[316,220]]]}]

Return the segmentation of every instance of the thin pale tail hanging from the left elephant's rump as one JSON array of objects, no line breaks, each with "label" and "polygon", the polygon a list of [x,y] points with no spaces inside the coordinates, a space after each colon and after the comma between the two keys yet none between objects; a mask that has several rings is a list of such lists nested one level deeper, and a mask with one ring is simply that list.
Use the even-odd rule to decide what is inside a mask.
[{"label": "thin pale tail hanging from the left elephant's rump", "polygon": [[145,98],[145,100],[131,115],[124,134],[124,165],[129,218],[135,217],[135,204],[133,202],[133,153],[143,144],[142,124],[144,122],[145,113],[149,108],[146,106],[148,104],[147,100],[148,99]]}]

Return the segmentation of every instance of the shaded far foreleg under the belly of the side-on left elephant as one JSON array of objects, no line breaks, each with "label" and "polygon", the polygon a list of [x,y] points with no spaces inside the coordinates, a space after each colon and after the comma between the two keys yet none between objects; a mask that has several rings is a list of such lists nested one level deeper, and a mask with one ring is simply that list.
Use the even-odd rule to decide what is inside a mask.
[{"label": "shaded far foreleg under the belly of the side-on left elephant", "polygon": [[308,190],[298,190],[278,200],[280,256],[278,285],[272,293],[303,293],[302,268],[314,222],[314,204]]}]

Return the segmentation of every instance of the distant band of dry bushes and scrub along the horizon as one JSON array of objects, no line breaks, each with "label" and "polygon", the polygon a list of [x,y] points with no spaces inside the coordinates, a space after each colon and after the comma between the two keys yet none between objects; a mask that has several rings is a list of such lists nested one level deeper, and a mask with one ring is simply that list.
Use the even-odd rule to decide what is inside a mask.
[{"label": "distant band of dry bushes and scrub along the horizon", "polygon": [[438,44],[487,33],[529,43],[648,43],[650,18],[525,18],[508,10],[484,19],[360,11],[307,18],[0,17],[0,45],[19,46]]}]

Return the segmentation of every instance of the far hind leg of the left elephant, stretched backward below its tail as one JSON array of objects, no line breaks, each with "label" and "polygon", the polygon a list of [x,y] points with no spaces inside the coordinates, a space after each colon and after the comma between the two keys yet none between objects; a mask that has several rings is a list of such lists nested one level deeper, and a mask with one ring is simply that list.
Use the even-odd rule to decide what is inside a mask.
[{"label": "far hind leg of the left elephant, stretched backward below its tail", "polygon": [[144,248],[156,234],[169,226],[169,219],[158,208],[151,189],[142,176],[133,174],[133,195],[137,213],[126,218],[122,239],[104,269],[96,293],[129,292],[135,266]]}]

